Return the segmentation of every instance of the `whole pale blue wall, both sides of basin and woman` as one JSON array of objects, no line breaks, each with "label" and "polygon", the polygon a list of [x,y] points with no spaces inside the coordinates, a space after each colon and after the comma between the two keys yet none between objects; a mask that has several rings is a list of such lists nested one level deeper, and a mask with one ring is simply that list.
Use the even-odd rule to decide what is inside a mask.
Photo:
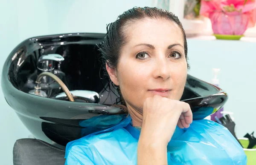
[{"label": "whole pale blue wall, both sides of basin and woman", "polygon": [[[71,32],[106,32],[106,24],[134,6],[151,6],[151,0],[8,0],[0,2],[0,73],[12,49],[29,37]],[[212,68],[221,68],[220,86],[229,94],[224,110],[233,111],[239,137],[256,131],[253,88],[256,80],[256,42],[188,40],[189,71],[205,81]],[[1,90],[1,89],[0,89]],[[16,139],[29,131],[7,105],[0,91],[0,164],[12,164]]]}]

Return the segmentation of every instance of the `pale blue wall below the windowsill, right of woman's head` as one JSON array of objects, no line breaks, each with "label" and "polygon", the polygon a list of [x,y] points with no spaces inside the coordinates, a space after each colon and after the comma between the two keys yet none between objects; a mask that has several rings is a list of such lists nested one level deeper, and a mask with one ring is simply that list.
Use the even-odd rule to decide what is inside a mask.
[{"label": "pale blue wall below the windowsill, right of woman's head", "polygon": [[237,137],[256,131],[256,38],[253,40],[188,39],[189,74],[211,82],[212,68],[221,69],[220,88],[229,96],[224,111],[234,113]]}]

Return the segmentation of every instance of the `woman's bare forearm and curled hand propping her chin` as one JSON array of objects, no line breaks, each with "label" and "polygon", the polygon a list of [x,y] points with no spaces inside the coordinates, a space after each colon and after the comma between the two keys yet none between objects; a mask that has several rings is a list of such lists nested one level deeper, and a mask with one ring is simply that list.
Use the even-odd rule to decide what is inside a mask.
[{"label": "woman's bare forearm and curled hand propping her chin", "polygon": [[143,123],[138,142],[138,164],[167,164],[167,144],[176,126],[192,123],[189,104],[155,95],[143,105]]}]

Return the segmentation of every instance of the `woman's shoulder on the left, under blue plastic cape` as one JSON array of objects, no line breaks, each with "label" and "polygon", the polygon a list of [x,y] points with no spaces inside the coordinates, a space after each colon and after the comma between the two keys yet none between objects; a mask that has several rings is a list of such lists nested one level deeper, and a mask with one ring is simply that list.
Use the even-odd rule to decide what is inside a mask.
[{"label": "woman's shoulder on the left, under blue plastic cape", "polygon": [[89,159],[94,164],[104,164],[108,161],[113,162],[113,160],[116,162],[124,160],[136,162],[137,142],[137,139],[125,128],[100,134],[90,134],[69,142],[66,147],[65,158],[76,156],[82,162]]}]

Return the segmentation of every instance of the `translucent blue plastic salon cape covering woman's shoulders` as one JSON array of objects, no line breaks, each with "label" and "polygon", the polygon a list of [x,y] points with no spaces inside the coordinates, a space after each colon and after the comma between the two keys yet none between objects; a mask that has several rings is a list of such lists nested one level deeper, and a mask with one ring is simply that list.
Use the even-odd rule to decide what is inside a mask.
[{"label": "translucent blue plastic salon cape covering woman's shoulders", "polygon": [[[103,120],[98,121],[114,121],[114,126],[69,142],[65,165],[136,165],[140,131],[131,125],[131,117],[99,117]],[[88,122],[90,119],[80,124],[86,127]],[[97,125],[102,128],[104,123],[96,122],[93,127]],[[194,120],[189,128],[177,127],[167,151],[168,164],[172,165],[247,164],[241,145],[227,128],[206,119]]]}]

